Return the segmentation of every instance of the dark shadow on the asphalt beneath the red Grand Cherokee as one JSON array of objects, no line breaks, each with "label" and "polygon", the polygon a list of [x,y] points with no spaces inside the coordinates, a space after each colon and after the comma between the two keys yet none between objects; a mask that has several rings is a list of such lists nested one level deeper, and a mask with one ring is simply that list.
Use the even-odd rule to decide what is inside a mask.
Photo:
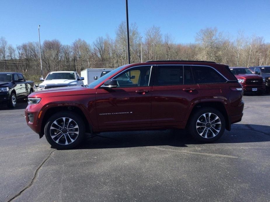
[{"label": "dark shadow on the asphalt beneath the red Grand Cherokee", "polygon": [[[270,141],[270,134],[250,128],[260,128],[270,131],[270,126],[237,124],[231,131],[213,143],[252,143]],[[144,146],[168,145],[174,147],[187,147],[190,144],[205,144],[195,141],[187,130],[163,131],[134,131],[134,132],[104,132],[94,138],[86,138],[83,143],[73,149],[99,149],[99,148],[127,148]]]}]

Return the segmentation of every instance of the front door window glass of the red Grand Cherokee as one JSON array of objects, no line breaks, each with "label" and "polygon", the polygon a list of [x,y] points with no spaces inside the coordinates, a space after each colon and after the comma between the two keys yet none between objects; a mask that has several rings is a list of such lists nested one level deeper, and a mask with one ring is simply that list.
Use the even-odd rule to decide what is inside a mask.
[{"label": "front door window glass of the red Grand Cherokee", "polygon": [[120,75],[114,77],[118,87],[148,86],[151,66],[140,66],[130,68]]}]

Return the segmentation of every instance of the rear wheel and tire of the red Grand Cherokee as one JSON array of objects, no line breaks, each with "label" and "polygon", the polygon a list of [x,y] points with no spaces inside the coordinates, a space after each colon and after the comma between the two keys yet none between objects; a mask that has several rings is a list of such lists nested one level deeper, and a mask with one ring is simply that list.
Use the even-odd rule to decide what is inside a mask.
[{"label": "rear wheel and tire of the red Grand Cherokee", "polygon": [[[213,121],[217,117],[218,119],[216,121]],[[206,121],[206,120],[209,120],[209,121]],[[201,127],[197,128],[197,126],[201,126]],[[222,136],[225,130],[224,116],[220,111],[218,111],[215,108],[211,108],[211,107],[199,108],[195,113],[191,114],[188,130],[191,136],[200,142],[216,141]]]}]

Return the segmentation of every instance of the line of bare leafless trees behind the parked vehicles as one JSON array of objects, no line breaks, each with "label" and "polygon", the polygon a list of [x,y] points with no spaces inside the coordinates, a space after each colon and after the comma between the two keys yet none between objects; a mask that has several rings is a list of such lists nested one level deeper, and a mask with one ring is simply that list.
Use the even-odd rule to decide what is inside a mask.
[{"label": "line of bare leafless trees behind the parked vehicles", "polygon": [[[233,66],[270,65],[270,44],[263,37],[245,37],[239,32],[234,39],[217,28],[196,33],[194,43],[176,43],[160,27],[151,26],[141,38],[137,25],[130,26],[130,62],[149,60],[204,60]],[[142,40],[143,39],[143,40]],[[141,53],[142,40],[142,53]],[[57,39],[41,45],[43,77],[51,71],[77,71],[86,68],[116,68],[128,63],[126,23],[116,28],[116,37],[98,37],[94,42],[77,39],[63,45]],[[0,38],[0,71],[22,72],[27,79],[40,77],[39,43],[26,42],[13,47]]]}]

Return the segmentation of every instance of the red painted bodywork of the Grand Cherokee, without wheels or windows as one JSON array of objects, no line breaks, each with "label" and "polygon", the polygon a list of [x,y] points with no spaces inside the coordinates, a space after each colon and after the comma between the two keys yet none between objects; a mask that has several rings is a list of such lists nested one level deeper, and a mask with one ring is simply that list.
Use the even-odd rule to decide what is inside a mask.
[{"label": "red painted bodywork of the Grand Cherokee, without wheels or windows", "polygon": [[[161,64],[210,66],[226,77],[228,82],[224,84],[150,85],[110,90],[100,88],[106,80],[114,78],[127,68],[140,65],[153,65],[155,68],[154,65],[157,65],[156,62],[130,64],[123,66],[93,88],[74,86],[32,93],[32,98],[41,98],[41,101],[39,104],[29,104],[25,109],[27,125],[36,133],[43,134],[43,119],[48,111],[60,107],[74,107],[83,113],[94,132],[184,128],[194,106],[203,102],[222,103],[230,123],[241,120],[243,91],[231,90],[232,87],[241,88],[241,84],[236,82],[234,75],[228,72],[227,65],[200,62],[158,62],[158,65]],[[186,88],[192,90],[188,91]],[[147,91],[147,93],[136,92],[141,90]],[[34,114],[33,123],[29,122],[28,113]],[[39,114],[40,118],[38,118]]]}]

